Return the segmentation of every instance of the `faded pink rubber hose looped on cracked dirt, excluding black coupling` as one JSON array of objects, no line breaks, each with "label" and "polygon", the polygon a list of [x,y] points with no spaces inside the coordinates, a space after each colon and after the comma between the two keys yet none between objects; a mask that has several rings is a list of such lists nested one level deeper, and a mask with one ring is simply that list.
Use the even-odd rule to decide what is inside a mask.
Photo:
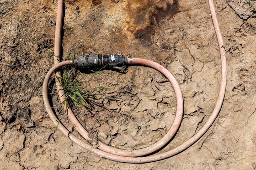
[{"label": "faded pink rubber hose looped on cracked dirt, excluding black coupling", "polygon": [[[203,125],[202,129],[200,129],[194,136],[192,136],[192,138],[188,139],[185,143],[181,144],[180,146],[174,149],[171,149],[169,151],[166,151],[164,153],[149,155],[154,151],[159,150],[166,143],[168,143],[173,137],[173,135],[176,133],[176,131],[178,130],[181,124],[181,119],[183,114],[183,98],[182,98],[181,89],[178,83],[176,82],[175,78],[171,75],[171,73],[168,70],[166,70],[164,67],[162,67],[161,65],[155,62],[145,60],[145,59],[140,59],[140,58],[128,58],[128,64],[139,64],[139,65],[149,66],[158,70],[163,75],[165,75],[165,77],[168,78],[168,80],[171,82],[174,88],[174,91],[176,93],[176,100],[177,100],[176,118],[174,120],[174,123],[171,126],[171,129],[165,134],[165,136],[162,139],[160,139],[160,141],[143,149],[136,149],[136,150],[129,151],[129,150],[113,148],[111,146],[101,143],[100,141],[98,142],[99,146],[97,148],[94,148],[90,143],[84,140],[81,140],[77,138],[75,135],[71,134],[69,130],[66,129],[66,127],[61,122],[59,122],[59,118],[54,114],[48,98],[48,83],[52,74],[58,71],[60,67],[72,64],[72,61],[59,62],[57,57],[54,58],[55,66],[49,70],[43,82],[43,101],[50,118],[53,120],[53,123],[56,126],[58,125],[58,128],[64,133],[64,135],[68,136],[71,140],[73,140],[75,143],[79,144],[83,148],[91,151],[96,155],[99,155],[101,157],[104,157],[110,160],[115,160],[118,162],[146,163],[146,162],[153,162],[157,160],[163,160],[165,158],[169,158],[173,155],[176,155],[182,152],[183,150],[187,149],[189,146],[194,144],[197,140],[199,140],[203,136],[203,134],[207,132],[207,130],[211,127],[214,120],[218,116],[219,110],[224,100],[224,95],[226,90],[226,74],[227,73],[226,73],[226,56],[225,56],[224,43],[223,43],[221,32],[219,29],[219,23],[216,17],[213,0],[209,0],[209,6],[210,6],[210,11],[211,11],[212,20],[213,20],[213,26],[219,42],[219,50],[220,50],[220,56],[221,56],[220,91],[219,91],[219,96],[217,98],[217,101],[215,103],[215,107],[213,109],[213,113],[209,117],[208,121]],[[63,20],[62,18],[63,7],[64,7],[64,1],[58,0],[55,42],[54,42],[55,43],[54,53],[56,54],[56,56],[60,55],[60,49],[61,49],[61,29],[62,29],[62,20]],[[56,72],[56,75],[61,76],[60,72]],[[57,85],[57,90],[59,92],[60,102],[63,102],[65,100],[64,91],[58,81],[56,81],[56,85]],[[64,106],[64,108],[66,108],[66,106]],[[80,124],[80,122],[75,117],[72,110],[70,109],[70,107],[68,106],[67,108],[68,108],[67,113],[68,113],[70,122],[74,125],[75,129],[84,137],[85,140],[90,141],[91,139],[88,137],[88,132]],[[149,155],[149,156],[139,157],[144,155]]]}]

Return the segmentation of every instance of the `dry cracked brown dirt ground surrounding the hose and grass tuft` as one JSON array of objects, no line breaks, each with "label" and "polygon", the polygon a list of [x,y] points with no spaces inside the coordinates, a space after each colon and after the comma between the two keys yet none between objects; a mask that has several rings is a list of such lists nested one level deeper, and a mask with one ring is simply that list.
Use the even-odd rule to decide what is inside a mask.
[{"label": "dry cracked brown dirt ground surrounding the hose and grass tuft", "polygon": [[[64,56],[115,53],[153,60],[170,70],[184,96],[175,139],[189,139],[206,122],[219,92],[219,51],[207,0],[66,0]],[[77,7],[79,6],[79,7]],[[256,2],[216,0],[224,36],[228,82],[212,128],[189,149],[149,164],[103,159],[73,144],[45,112],[43,78],[53,66],[56,2],[0,0],[0,169],[256,169]],[[80,74],[83,79],[88,75]],[[85,77],[85,78],[84,78]],[[119,148],[159,140],[176,110],[165,77],[145,67],[104,71],[91,87],[109,88],[109,111],[76,112],[90,132]],[[98,91],[96,93],[103,93]],[[54,109],[72,126],[53,96]],[[74,134],[77,135],[75,131]]]}]

